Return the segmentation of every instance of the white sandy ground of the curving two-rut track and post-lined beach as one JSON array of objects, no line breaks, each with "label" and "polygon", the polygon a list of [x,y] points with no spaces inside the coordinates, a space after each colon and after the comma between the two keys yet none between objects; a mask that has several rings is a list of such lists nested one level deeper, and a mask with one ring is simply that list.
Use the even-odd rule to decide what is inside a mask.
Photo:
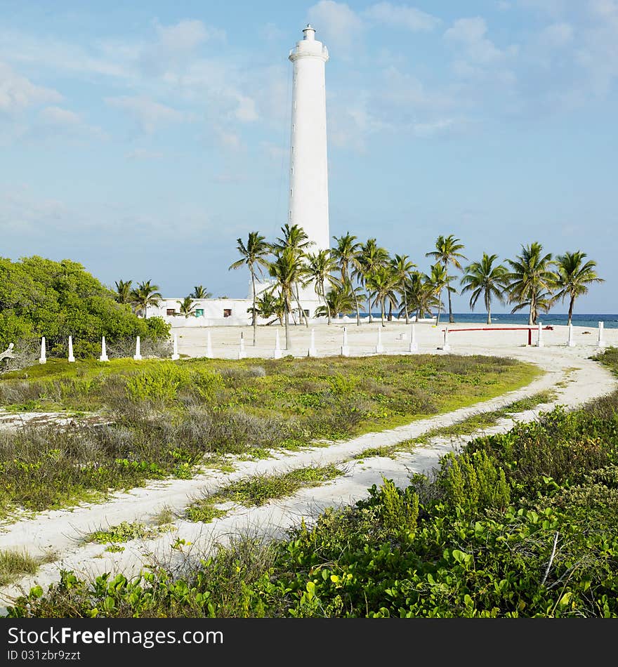
[{"label": "white sandy ground of the curving two-rut track and post-lined beach", "polygon": [[[375,353],[378,341],[379,323],[364,324],[357,328],[355,322],[292,327],[293,347],[296,356],[305,356],[310,341],[310,331],[315,329],[315,346],[319,356],[338,355],[341,352],[343,326],[347,326],[350,355]],[[543,331],[543,345],[537,347],[537,332],[532,335],[532,346],[526,345],[527,331],[461,331],[469,324],[449,325],[450,353],[482,354],[513,357],[538,364],[545,371],[544,376],[526,388],[508,392],[491,401],[459,409],[428,419],[415,421],[406,426],[379,433],[369,433],[345,442],[333,442],[327,447],[303,449],[289,454],[277,453],[272,458],[261,461],[238,461],[234,473],[211,471],[197,475],[191,480],[169,480],[156,482],[147,487],[133,489],[129,493],[114,494],[109,501],[84,505],[72,510],[52,510],[34,517],[23,517],[13,523],[0,524],[0,549],[26,549],[31,555],[53,552],[55,560],[44,564],[36,576],[27,577],[0,591],[0,602],[10,604],[11,598],[39,584],[48,586],[58,581],[60,569],[72,569],[86,576],[96,576],[103,572],[124,572],[138,574],[149,564],[180,564],[185,562],[187,553],[203,555],[214,543],[225,543],[235,534],[256,534],[261,536],[282,536],[300,522],[301,517],[311,522],[312,518],[327,506],[354,503],[367,495],[372,484],[380,484],[383,477],[396,484],[406,484],[409,475],[426,473],[438,464],[440,457],[461,445],[461,440],[435,438],[430,444],[416,447],[397,458],[353,458],[362,451],[387,444],[396,444],[414,439],[434,428],[461,421],[481,411],[492,411],[504,407],[522,397],[533,395],[546,388],[557,393],[555,401],[537,409],[518,414],[518,421],[530,421],[540,411],[551,409],[555,404],[575,407],[607,394],[617,386],[616,378],[594,362],[590,357],[598,352],[596,329],[574,328],[574,347],[567,347],[567,328],[554,326]],[[473,325],[475,326],[475,325]],[[478,326],[485,326],[480,324]],[[499,325],[495,325],[497,327]],[[416,324],[416,339],[419,352],[446,354],[443,325]],[[201,329],[175,329],[178,334],[178,350],[181,355],[204,356],[206,334]],[[235,358],[239,350],[239,328],[211,329],[213,356]],[[590,333],[586,334],[585,332]],[[251,328],[242,329],[244,350],[248,357],[271,357],[275,348],[275,330],[258,329],[258,345],[251,343]],[[284,336],[280,331],[280,341],[284,347]],[[403,339],[400,339],[403,334]],[[402,354],[409,348],[411,326],[389,323],[382,329],[383,353]],[[618,329],[606,329],[607,345],[618,345]],[[283,350],[283,354],[286,351]],[[486,432],[504,432],[511,428],[513,421],[501,420]],[[466,438],[463,442],[467,442]],[[191,523],[177,518],[174,529],[155,540],[135,540],[124,543],[121,553],[105,552],[104,545],[84,544],[83,538],[94,530],[116,525],[121,521],[151,522],[162,509],[169,508],[177,517],[190,502],[212,492],[239,477],[258,473],[277,474],[293,468],[308,465],[338,463],[346,469],[346,475],[329,484],[313,489],[305,489],[281,501],[273,501],[261,508],[232,508],[221,520],[209,524]],[[185,545],[176,541],[184,540]]]}]

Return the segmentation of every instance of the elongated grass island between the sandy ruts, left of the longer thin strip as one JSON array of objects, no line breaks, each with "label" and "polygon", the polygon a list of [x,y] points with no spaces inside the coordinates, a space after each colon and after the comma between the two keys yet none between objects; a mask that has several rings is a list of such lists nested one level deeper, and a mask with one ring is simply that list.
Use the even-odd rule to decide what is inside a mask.
[{"label": "elongated grass island between the sandy ruts, left of the longer thin strip", "polygon": [[190,521],[209,522],[226,513],[216,505],[235,503],[244,507],[259,507],[275,498],[291,496],[299,489],[319,487],[344,474],[336,465],[326,465],[291,470],[283,475],[254,475],[192,503],[185,511],[185,517]]}]

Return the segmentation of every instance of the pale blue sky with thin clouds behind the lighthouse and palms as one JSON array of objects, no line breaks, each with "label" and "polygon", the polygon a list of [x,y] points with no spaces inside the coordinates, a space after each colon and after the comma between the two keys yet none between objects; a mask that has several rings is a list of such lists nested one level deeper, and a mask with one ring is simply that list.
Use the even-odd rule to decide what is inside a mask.
[{"label": "pale blue sky with thin clouds behind the lighthouse and palms", "polygon": [[580,249],[606,282],[576,310],[618,312],[618,0],[0,0],[0,15],[1,256],[245,296],[228,265],[237,237],[286,220],[287,55],[310,21],[330,53],[331,235],[422,270],[439,234],[470,260]]}]

